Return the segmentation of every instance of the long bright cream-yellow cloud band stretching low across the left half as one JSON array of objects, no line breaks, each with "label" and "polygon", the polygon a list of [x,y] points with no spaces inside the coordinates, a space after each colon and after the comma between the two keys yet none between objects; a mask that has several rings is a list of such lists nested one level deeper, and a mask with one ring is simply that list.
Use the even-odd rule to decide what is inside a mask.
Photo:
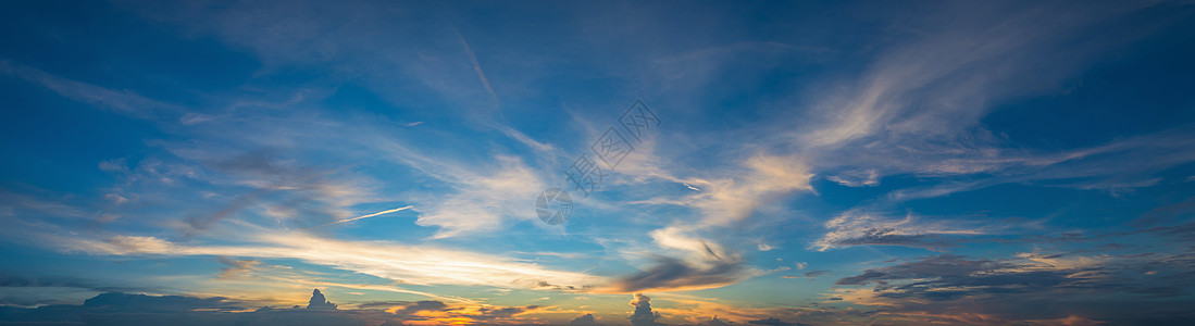
[{"label": "long bright cream-yellow cloud band stretching low across the left half", "polygon": [[61,250],[110,256],[220,256],[295,258],[407,284],[484,285],[509,289],[584,291],[607,282],[602,277],[546,269],[515,259],[390,241],[341,241],[311,234],[258,229],[239,245],[176,244],[154,236],[116,235],[106,240],[42,235]]}]

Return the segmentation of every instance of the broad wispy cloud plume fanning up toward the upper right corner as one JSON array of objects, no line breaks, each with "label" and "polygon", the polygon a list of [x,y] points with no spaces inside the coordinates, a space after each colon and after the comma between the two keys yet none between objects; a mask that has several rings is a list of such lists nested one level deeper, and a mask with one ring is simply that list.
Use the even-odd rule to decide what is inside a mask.
[{"label": "broad wispy cloud plume fanning up toward the upper right corner", "polygon": [[[1085,14],[1059,17],[1054,14],[1059,8],[1050,5],[986,7],[982,14],[976,8],[937,8],[943,16],[917,21],[940,29],[884,51],[850,91],[821,97],[814,111],[819,119],[805,124],[811,131],[799,133],[798,142],[839,147],[868,139],[899,146],[970,133],[993,100],[1052,90],[1079,67],[1078,60],[1050,62],[1038,56],[1077,50],[1052,41],[1134,10],[1092,6],[1084,8]],[[1034,82],[1021,82],[1012,78],[1018,74],[1009,73],[1025,70],[1034,72]]]}]

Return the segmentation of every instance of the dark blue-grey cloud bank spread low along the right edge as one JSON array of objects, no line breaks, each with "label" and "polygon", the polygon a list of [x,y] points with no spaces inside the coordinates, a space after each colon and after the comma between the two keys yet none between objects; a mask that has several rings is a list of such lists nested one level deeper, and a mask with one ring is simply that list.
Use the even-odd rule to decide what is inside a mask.
[{"label": "dark blue-grey cloud bank spread low along the right edge", "polygon": [[[982,324],[1065,319],[1123,325],[1182,325],[1195,315],[1191,252],[1086,258],[1074,254],[972,259],[936,256],[871,269],[836,282],[871,287],[883,314],[988,315]],[[943,322],[974,324],[976,320]]]}]

